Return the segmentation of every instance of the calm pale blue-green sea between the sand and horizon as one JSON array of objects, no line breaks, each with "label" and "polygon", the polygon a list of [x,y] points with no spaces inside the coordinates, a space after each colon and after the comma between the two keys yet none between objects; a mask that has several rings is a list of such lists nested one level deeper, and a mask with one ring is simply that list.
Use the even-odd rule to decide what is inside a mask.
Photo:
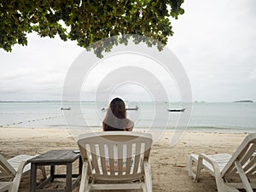
[{"label": "calm pale blue-green sea between the sand and horizon", "polygon": [[[1,127],[27,128],[60,128],[66,129],[67,122],[61,107],[70,107],[65,111],[68,117],[75,117],[73,105],[80,105],[86,125],[76,123],[73,128],[100,129],[102,119],[108,103],[104,102],[0,102]],[[160,115],[155,115],[155,106]],[[132,106],[129,106],[131,108]],[[135,107],[135,106],[133,106]],[[135,122],[135,130],[147,129],[154,125],[154,129],[165,127],[172,130],[177,125],[180,112],[168,112],[167,108],[182,108],[180,103],[140,102],[137,111],[128,111],[128,116]],[[187,113],[186,111],[183,113]],[[162,119],[170,115],[169,119]],[[154,124],[153,124],[154,122]],[[69,125],[70,126],[70,125]],[[256,103],[254,102],[195,102],[188,131],[210,132],[256,132]]]}]

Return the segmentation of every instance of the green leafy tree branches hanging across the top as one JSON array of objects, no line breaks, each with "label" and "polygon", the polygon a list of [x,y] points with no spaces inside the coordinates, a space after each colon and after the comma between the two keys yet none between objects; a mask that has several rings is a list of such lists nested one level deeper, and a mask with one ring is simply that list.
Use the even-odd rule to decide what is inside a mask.
[{"label": "green leafy tree branches hanging across the top", "polygon": [[[41,37],[54,38],[58,34],[64,41],[76,40],[79,46],[94,49],[98,56],[112,49],[113,44],[127,44],[133,34],[141,35],[132,37],[136,43],[145,41],[148,46],[157,44],[162,49],[173,34],[170,19],[177,19],[184,12],[182,3],[183,0],[0,0],[0,48],[11,51],[14,44],[26,45],[27,33],[38,32]],[[113,36],[119,38],[94,44]]]}]

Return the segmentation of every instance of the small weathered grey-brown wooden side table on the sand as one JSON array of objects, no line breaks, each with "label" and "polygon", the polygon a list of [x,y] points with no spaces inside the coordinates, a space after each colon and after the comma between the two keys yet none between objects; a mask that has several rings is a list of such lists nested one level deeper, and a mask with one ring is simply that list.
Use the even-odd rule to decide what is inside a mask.
[{"label": "small weathered grey-brown wooden side table on the sand", "polygon": [[[79,159],[79,174],[72,173],[72,165],[75,160]],[[31,192],[71,192],[79,183],[82,172],[82,159],[80,154],[76,154],[73,150],[51,150],[45,154],[40,154],[37,157],[29,160],[31,163]],[[67,166],[67,174],[55,174],[55,166]],[[37,186],[37,167],[50,166],[50,174],[44,182]],[[53,182],[55,178],[66,177],[66,189],[43,189],[47,183]],[[76,177],[74,181],[72,178]]]}]

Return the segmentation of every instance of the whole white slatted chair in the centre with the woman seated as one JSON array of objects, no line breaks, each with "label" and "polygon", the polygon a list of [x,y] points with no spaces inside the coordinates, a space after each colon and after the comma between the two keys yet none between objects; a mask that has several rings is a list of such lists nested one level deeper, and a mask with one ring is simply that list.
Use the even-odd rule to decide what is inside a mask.
[{"label": "whole white slatted chair in the centre with the woman seated", "polygon": [[88,133],[79,136],[78,144],[83,159],[79,192],[90,189],[152,191],[149,164],[152,136],[149,133]]}]

